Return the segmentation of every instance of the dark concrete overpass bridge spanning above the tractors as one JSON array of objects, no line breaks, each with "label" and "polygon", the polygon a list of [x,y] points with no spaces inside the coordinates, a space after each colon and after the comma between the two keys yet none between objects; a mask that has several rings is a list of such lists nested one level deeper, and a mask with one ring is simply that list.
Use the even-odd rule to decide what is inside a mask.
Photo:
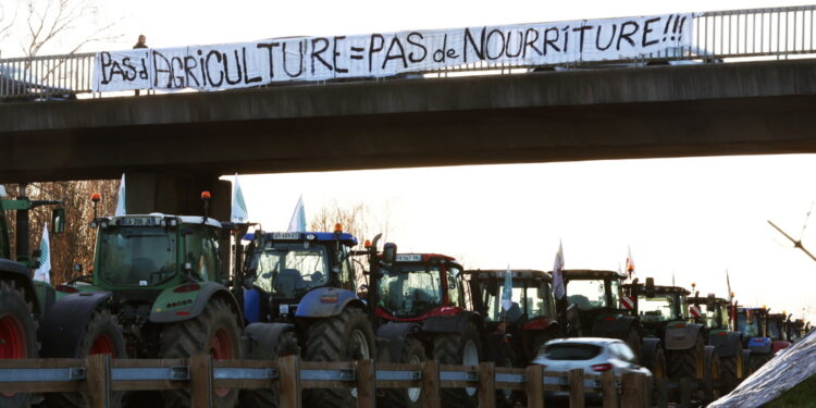
[{"label": "dark concrete overpass bridge spanning above the tractors", "polygon": [[134,211],[197,212],[235,172],[816,152],[814,62],[5,103],[0,183],[127,172]]}]

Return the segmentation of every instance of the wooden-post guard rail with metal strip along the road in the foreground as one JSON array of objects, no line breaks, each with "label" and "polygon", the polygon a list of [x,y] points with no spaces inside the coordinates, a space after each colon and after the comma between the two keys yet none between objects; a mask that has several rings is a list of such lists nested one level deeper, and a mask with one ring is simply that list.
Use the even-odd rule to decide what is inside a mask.
[{"label": "wooden-post guard rail with metal strip along the road in the foreground", "polygon": [[300,361],[287,356],[277,361],[213,360],[209,355],[189,359],[0,360],[0,393],[85,393],[89,408],[109,407],[112,392],[188,388],[193,407],[212,406],[215,388],[280,390],[282,407],[300,407],[301,391],[357,388],[357,407],[373,408],[376,388],[422,390],[422,406],[440,407],[441,388],[474,387],[479,407],[493,408],[497,390],[524,393],[528,407],[543,408],[545,392],[569,393],[570,407],[584,406],[584,393],[599,393],[603,406],[650,407],[651,384],[642,373],[615,378],[611,371],[584,374],[583,370],[545,372],[479,366]]}]

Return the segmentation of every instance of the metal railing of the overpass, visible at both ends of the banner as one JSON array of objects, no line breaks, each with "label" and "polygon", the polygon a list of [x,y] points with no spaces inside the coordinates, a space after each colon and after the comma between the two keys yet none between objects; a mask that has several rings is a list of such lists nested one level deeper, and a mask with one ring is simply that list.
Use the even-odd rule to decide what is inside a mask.
[{"label": "metal railing of the overpass, visible at both ends of the banner", "polygon": [[[603,61],[632,63],[645,66],[651,62],[667,60],[698,60],[704,62],[724,59],[788,59],[816,54],[814,46],[814,11],[816,5],[727,10],[700,13],[694,16],[692,46],[670,51],[642,55],[636,60]],[[33,58],[0,59],[0,101],[14,99],[49,99],[52,96],[90,94],[94,76],[94,53],[44,55]],[[598,62],[594,62],[597,64]],[[579,67],[593,62],[571,63]],[[419,72],[417,77],[447,77],[456,75],[519,74],[532,69],[552,65],[523,63],[475,63]],[[401,78],[404,76],[397,76]],[[349,79],[344,79],[349,81]],[[357,79],[355,79],[357,81]],[[359,81],[388,81],[388,78],[360,78]],[[331,82],[331,81],[330,81]],[[319,82],[317,84],[325,84]],[[285,85],[275,83],[274,86]],[[271,86],[271,85],[262,85]],[[96,97],[101,96],[96,94]]]}]

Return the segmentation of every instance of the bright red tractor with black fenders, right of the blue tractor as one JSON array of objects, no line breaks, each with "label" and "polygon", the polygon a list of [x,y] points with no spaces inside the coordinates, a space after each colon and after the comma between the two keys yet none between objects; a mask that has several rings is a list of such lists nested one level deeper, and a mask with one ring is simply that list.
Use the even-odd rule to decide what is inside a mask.
[{"label": "bright red tractor with black fenders, right of the blue tractor", "polygon": [[[393,244],[386,248],[396,250]],[[372,259],[375,246],[369,249],[374,268],[369,271],[367,300],[376,305],[376,336],[387,344],[387,360],[433,358],[444,364],[478,366],[485,358],[485,331],[482,317],[466,309],[462,267],[445,255],[397,254],[379,268]],[[393,390],[385,393],[383,404],[418,407],[420,397],[419,388]],[[442,390],[446,407],[475,404],[475,387]]]}]

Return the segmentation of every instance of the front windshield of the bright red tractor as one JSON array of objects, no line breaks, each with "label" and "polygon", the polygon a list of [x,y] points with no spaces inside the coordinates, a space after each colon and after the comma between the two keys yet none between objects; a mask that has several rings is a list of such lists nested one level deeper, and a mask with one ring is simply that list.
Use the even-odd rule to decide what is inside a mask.
[{"label": "front windshield of the bright red tractor", "polygon": [[378,306],[400,318],[413,318],[442,306],[438,265],[395,263],[382,270]]}]

